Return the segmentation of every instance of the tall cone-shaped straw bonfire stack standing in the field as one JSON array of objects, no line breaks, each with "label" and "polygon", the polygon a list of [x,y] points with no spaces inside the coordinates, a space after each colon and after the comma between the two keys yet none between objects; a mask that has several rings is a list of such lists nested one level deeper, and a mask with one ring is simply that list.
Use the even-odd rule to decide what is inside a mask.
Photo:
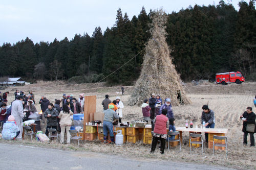
[{"label": "tall cone-shaped straw bonfire stack standing in the field", "polygon": [[144,61],[139,79],[129,99],[129,105],[141,105],[152,93],[162,99],[170,98],[173,106],[190,104],[177,74],[170,50],[165,41],[167,15],[162,9],[155,11],[150,33],[152,38],[145,46]]}]

